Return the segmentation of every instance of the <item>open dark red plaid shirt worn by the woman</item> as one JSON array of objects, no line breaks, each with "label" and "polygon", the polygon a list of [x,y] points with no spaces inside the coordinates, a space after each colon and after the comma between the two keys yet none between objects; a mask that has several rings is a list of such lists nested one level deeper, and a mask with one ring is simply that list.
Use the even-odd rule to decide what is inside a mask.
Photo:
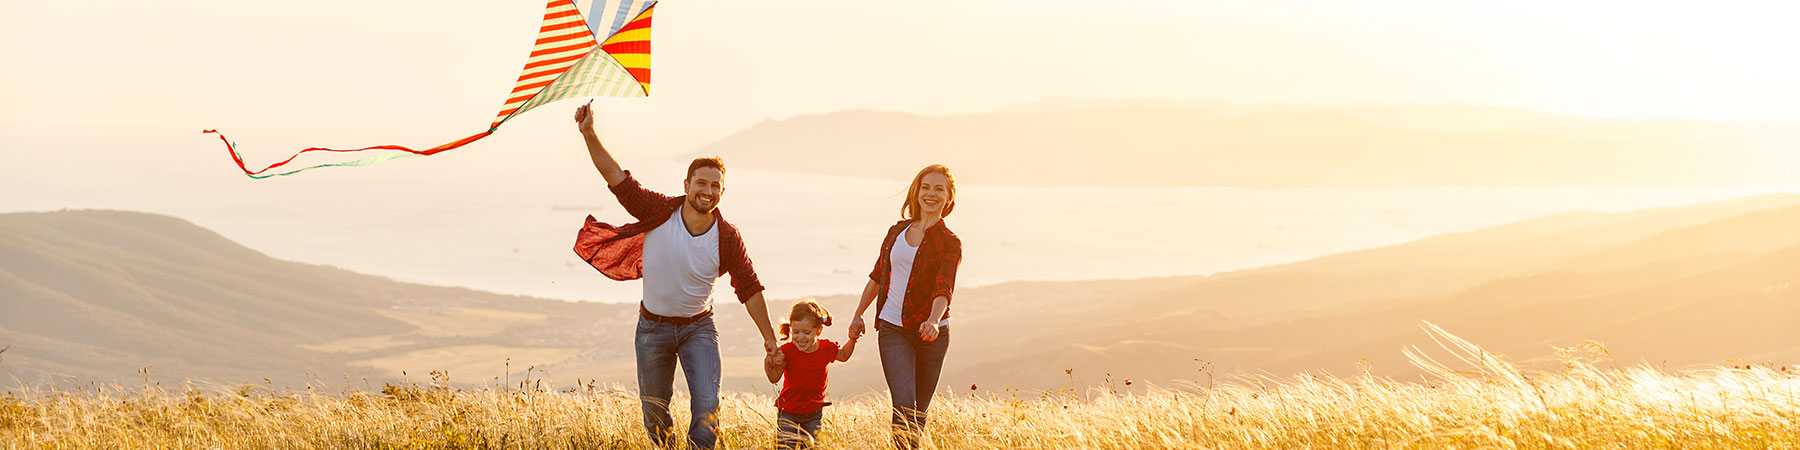
[{"label": "open dark red plaid shirt worn by the woman", "polygon": [[[869,279],[875,281],[877,297],[875,310],[880,311],[882,304],[887,302],[887,277],[893,274],[891,254],[895,250],[895,239],[905,239],[900,232],[905,230],[911,220],[902,220],[887,229],[887,239],[882,239],[882,254],[875,259],[875,272],[869,272]],[[954,299],[950,293],[956,292],[956,266],[963,263],[963,239],[950,232],[940,220],[938,225],[925,229],[925,239],[918,243],[918,254],[913,257],[913,275],[905,283],[905,299],[900,304],[900,324],[905,329],[916,329],[931,315],[931,301],[938,295]],[[945,306],[943,317],[950,317],[950,308]]]}]

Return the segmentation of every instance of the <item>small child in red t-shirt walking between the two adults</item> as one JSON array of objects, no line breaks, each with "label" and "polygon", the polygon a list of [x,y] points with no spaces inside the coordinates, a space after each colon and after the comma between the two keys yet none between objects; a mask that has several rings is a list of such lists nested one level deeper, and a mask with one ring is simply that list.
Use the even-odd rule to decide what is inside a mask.
[{"label": "small child in red t-shirt walking between the two adults", "polygon": [[[769,382],[781,382],[781,396],[776,398],[776,446],[810,448],[819,434],[819,419],[832,401],[824,401],[826,365],[848,362],[857,351],[857,333],[842,346],[819,338],[823,328],[832,326],[832,313],[824,311],[817,301],[801,299],[788,311],[788,320],[781,324],[781,338],[790,340],[763,358],[763,371]],[[783,380],[787,378],[787,380]]]}]

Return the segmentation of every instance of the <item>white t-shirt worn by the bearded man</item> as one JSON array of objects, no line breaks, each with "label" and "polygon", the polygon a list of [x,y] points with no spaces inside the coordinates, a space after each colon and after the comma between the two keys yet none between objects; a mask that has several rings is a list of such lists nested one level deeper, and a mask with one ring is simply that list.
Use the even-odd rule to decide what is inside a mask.
[{"label": "white t-shirt worn by the bearded man", "polygon": [[644,310],[695,317],[713,306],[718,279],[718,223],[700,236],[688,232],[680,209],[644,234]]}]

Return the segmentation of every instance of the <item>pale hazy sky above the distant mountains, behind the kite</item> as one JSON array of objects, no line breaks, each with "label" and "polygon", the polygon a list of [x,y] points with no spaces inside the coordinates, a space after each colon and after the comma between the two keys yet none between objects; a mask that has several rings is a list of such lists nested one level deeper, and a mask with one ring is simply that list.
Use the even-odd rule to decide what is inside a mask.
[{"label": "pale hazy sky above the distant mountains, behind the kite", "polygon": [[[536,0],[4,2],[0,151],[216,144],[200,128],[270,157],[434,146],[481,131],[540,14]],[[1732,2],[671,0],[652,97],[603,101],[603,131],[677,153],[796,113],[1051,95],[1800,121],[1795,16]],[[569,108],[502,135],[567,133]]]}]

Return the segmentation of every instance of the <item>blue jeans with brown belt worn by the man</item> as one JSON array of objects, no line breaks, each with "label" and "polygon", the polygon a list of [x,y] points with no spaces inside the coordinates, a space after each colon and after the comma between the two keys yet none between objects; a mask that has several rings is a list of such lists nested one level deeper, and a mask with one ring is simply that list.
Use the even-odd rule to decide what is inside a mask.
[{"label": "blue jeans with brown belt worn by the man", "polygon": [[644,409],[644,428],[650,441],[670,448],[675,425],[670,418],[670,396],[675,394],[675,364],[680,362],[688,378],[688,396],[693,398],[693,421],[688,423],[689,448],[713,448],[718,443],[718,328],[713,317],[675,326],[637,317],[637,398]]}]

